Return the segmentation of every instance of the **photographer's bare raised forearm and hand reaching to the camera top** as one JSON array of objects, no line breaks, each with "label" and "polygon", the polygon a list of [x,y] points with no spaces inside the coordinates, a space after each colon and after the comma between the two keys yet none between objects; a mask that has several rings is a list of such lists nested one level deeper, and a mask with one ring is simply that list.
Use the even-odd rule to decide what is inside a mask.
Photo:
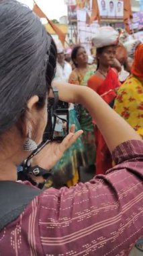
[{"label": "photographer's bare raised forearm and hand reaching to the camera top", "polygon": [[83,104],[89,110],[110,152],[124,141],[142,140],[136,131],[90,88],[58,82],[53,82],[52,86],[58,88],[60,100]]}]

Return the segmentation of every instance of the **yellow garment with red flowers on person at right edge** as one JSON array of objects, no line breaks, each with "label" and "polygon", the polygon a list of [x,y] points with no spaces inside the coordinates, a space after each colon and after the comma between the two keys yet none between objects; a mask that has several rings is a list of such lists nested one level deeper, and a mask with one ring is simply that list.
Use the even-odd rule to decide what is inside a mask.
[{"label": "yellow garment with red flowers on person at right edge", "polygon": [[128,77],[117,92],[113,108],[143,138],[143,81]]}]

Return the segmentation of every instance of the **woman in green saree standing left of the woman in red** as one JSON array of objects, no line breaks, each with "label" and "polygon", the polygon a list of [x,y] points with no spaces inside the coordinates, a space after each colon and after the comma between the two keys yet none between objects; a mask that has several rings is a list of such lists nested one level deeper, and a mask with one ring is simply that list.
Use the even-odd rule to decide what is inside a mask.
[{"label": "woman in green saree standing left of the woman in red", "polygon": [[[75,54],[76,53],[76,54]],[[75,55],[76,56],[75,56]],[[88,65],[88,56],[82,46],[73,49],[73,62],[77,68],[73,70],[69,77],[69,83],[87,86],[87,80],[95,71],[95,66]],[[78,62],[78,64],[76,63]],[[66,150],[60,161],[54,166],[52,181],[48,179],[46,187],[51,185],[54,187],[62,187],[66,185],[70,187],[76,185],[80,181],[80,166],[94,168],[95,170],[95,136],[93,132],[92,119],[87,110],[79,105],[79,121],[77,119],[77,111],[73,104],[69,108],[69,126],[75,124],[75,131],[83,129],[84,133]]]}]

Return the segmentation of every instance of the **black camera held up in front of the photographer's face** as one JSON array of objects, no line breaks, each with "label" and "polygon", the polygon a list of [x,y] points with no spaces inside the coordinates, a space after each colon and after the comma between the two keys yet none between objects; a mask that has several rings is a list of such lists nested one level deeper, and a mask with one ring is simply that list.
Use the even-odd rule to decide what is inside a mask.
[{"label": "black camera held up in front of the photographer's face", "polygon": [[44,131],[43,141],[62,141],[69,129],[68,103],[48,98],[48,123]]}]

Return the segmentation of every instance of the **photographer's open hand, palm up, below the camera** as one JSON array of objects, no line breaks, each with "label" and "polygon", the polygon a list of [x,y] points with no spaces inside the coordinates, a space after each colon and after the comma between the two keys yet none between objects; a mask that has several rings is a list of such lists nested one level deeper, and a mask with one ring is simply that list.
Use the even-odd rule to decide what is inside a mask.
[{"label": "photographer's open hand, palm up, below the camera", "polygon": [[50,142],[46,145],[34,158],[32,158],[32,166],[40,166],[46,170],[50,170],[64,152],[79,138],[83,133],[79,130],[75,133],[75,125],[70,128],[70,133],[63,139],[62,142]]}]

